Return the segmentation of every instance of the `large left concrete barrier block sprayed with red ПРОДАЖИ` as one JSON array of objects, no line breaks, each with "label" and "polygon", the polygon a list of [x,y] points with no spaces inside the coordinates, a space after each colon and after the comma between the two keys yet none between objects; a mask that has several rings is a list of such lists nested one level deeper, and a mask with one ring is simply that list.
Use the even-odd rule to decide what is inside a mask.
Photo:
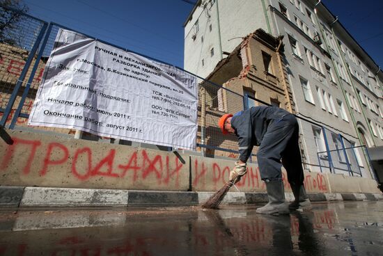
[{"label": "large left concrete barrier block sprayed with red \u041f\u0420\u041e\u0414\u0410\u0416\u0418", "polygon": [[189,156],[8,131],[0,141],[0,184],[81,189],[189,190]]}]

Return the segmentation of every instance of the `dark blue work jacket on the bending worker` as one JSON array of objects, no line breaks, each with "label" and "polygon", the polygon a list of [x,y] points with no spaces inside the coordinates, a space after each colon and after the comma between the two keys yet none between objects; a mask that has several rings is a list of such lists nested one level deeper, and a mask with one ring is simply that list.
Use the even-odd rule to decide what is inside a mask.
[{"label": "dark blue work jacket on the bending worker", "polygon": [[288,111],[276,106],[253,106],[236,113],[231,118],[231,127],[235,129],[235,135],[238,137],[240,160],[246,162],[253,146],[262,143],[270,123],[287,114]]}]

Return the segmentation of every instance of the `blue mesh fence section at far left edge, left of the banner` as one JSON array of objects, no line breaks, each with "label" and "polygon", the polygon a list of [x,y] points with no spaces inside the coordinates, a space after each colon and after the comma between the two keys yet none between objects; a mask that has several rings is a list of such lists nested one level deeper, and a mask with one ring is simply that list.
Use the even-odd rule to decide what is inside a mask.
[{"label": "blue mesh fence section at far left edge, left of the banner", "polygon": [[[37,49],[47,22],[2,5],[0,12],[0,115],[1,125],[4,126],[15,116],[24,89],[29,86],[33,92],[40,84],[45,64],[38,64]],[[24,103],[21,106],[27,113],[33,100],[28,99]],[[23,125],[26,120],[18,122]]]}]

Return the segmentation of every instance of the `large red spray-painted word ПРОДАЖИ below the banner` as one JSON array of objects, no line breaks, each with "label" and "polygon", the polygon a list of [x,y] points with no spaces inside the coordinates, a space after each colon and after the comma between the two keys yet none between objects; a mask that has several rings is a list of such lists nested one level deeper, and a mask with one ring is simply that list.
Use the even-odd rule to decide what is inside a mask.
[{"label": "large red spray-painted word \u041f\u0420\u041e\u0414\u0410\u0416\u0418 below the banner", "polygon": [[[71,173],[74,177],[81,181],[91,179],[91,177],[110,177],[125,178],[132,171],[132,182],[137,179],[148,179],[155,177],[158,184],[169,184],[171,180],[175,182],[175,186],[179,185],[180,170],[184,166],[178,157],[171,158],[169,155],[161,156],[159,154],[150,157],[146,150],[141,150],[141,162],[138,162],[139,153],[134,152],[127,155],[125,164],[116,164],[116,150],[111,149],[100,160],[94,159],[93,150],[90,147],[81,147],[74,153],[68,150],[68,147],[61,143],[48,143],[42,145],[40,141],[25,140],[22,138],[13,138],[13,145],[8,145],[3,159],[0,163],[0,170],[5,171],[10,161],[15,157],[17,150],[22,150],[23,158],[23,175],[31,173],[31,166],[35,161],[36,154],[44,154],[45,157],[40,164],[41,169],[38,174],[43,177],[50,171],[54,171],[58,166],[70,164]],[[45,153],[44,153],[45,152]],[[80,161],[83,161],[79,164]],[[120,163],[120,159],[118,159]],[[171,165],[173,162],[173,166]]]}]

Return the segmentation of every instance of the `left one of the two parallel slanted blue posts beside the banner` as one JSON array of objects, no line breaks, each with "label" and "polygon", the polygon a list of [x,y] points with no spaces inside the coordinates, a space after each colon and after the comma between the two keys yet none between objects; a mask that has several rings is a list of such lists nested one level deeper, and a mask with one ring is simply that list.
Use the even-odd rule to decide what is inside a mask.
[{"label": "left one of the two parallel slanted blue posts beside the banner", "polygon": [[31,63],[33,61],[33,56],[35,56],[36,51],[38,49],[38,45],[40,45],[40,42],[42,40],[42,36],[44,35],[46,30],[47,30],[47,23],[44,23],[41,30],[40,30],[40,33],[38,34],[38,38],[36,38],[36,41],[35,41],[32,49],[31,49],[31,52],[29,53],[28,59],[26,60],[26,63],[24,65],[22,73],[20,74],[19,79],[17,80],[15,88],[13,89],[13,92],[10,95],[9,102],[6,106],[5,111],[4,111],[3,118],[1,118],[1,120],[0,120],[0,125],[3,127],[6,126],[6,120],[8,119],[8,116],[10,115],[10,112],[12,111],[13,104],[15,104],[17,93],[19,92],[20,88],[22,87],[22,83],[24,81],[26,73],[28,72],[29,67],[31,66]]}]

